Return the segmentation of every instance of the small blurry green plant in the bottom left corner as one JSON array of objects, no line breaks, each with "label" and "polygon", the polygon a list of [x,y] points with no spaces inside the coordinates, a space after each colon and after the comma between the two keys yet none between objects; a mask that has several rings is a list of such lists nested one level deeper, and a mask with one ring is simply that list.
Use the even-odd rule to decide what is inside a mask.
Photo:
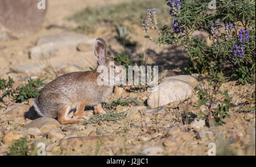
[{"label": "small blurry green plant in the bottom left corner", "polygon": [[27,156],[29,152],[27,138],[20,138],[15,140],[13,145],[10,147],[9,155],[13,156]]}]

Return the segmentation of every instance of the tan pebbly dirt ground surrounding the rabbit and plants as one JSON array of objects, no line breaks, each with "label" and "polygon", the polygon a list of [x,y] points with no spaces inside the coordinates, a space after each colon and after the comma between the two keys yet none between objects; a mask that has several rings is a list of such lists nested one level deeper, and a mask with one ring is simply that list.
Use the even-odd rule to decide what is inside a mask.
[{"label": "tan pebbly dirt ground surrounding the rabbit and plants", "polygon": [[[28,50],[36,44],[36,41],[41,36],[65,31],[65,28],[76,27],[76,23],[67,20],[67,16],[75,14],[75,12],[88,6],[104,6],[125,1],[49,1],[46,20],[40,31],[22,38],[0,41],[0,46],[5,46],[5,49],[0,49],[0,78],[7,79],[10,76],[17,83],[17,86],[26,83],[27,79],[24,78],[29,76],[38,76],[39,78],[45,78],[47,76],[46,83],[50,82],[54,79],[51,71],[42,69],[39,72],[30,70],[27,73],[20,73],[13,72],[10,68],[17,65],[40,65],[44,63],[43,60],[30,59],[28,57]],[[129,22],[126,24],[129,24]],[[47,28],[49,25],[55,26],[53,28]],[[141,47],[135,49],[127,48],[127,53],[130,57],[134,58],[135,62],[139,63],[141,61],[139,54],[143,52],[144,48],[147,48],[147,63],[149,65],[158,65],[159,71],[167,72],[167,76],[187,74],[183,70],[187,66],[187,54],[182,52],[181,48],[155,45],[154,42],[147,41],[143,37],[141,27],[133,25],[133,29],[137,33],[134,33],[132,40],[139,42]],[[92,39],[96,39],[97,37],[104,38],[111,54],[123,51],[123,46],[116,38],[117,32],[113,31],[111,25],[99,26],[94,33],[87,36]],[[65,50],[59,52],[55,57],[51,58],[51,64],[56,71],[60,72],[59,74],[77,71],[77,68],[68,68],[63,71],[65,65],[71,64],[78,66],[81,70],[89,70],[90,64],[88,64],[85,58],[90,59],[92,56],[93,44],[88,44],[88,47],[82,53],[77,50],[72,50],[68,54]],[[95,59],[92,58],[90,61],[94,65],[96,64]],[[204,79],[197,78],[197,76],[195,78],[198,83],[205,82]],[[152,150],[150,152],[154,152],[154,149],[156,149],[156,153],[152,153],[152,155],[208,155],[209,143],[217,144],[218,155],[255,155],[255,108],[253,111],[243,112],[255,105],[250,104],[247,99],[255,91],[255,84],[238,85],[236,81],[229,78],[227,80],[228,82],[222,85],[221,90],[228,90],[229,96],[232,97],[232,102],[236,106],[229,112],[231,118],[224,119],[225,124],[223,126],[204,126],[200,131],[211,132],[209,135],[205,135],[204,138],[199,137],[200,131],[189,128],[191,125],[184,124],[184,110],[182,109],[182,105],[184,104],[176,102],[164,105],[163,113],[158,115],[154,113],[146,114],[137,110],[138,113],[132,117],[126,117],[118,121],[102,121],[86,125],[77,123],[74,125],[64,125],[59,128],[62,130],[60,133],[64,137],[100,136],[97,138],[99,140],[84,139],[86,140],[84,142],[86,144],[81,147],[72,145],[74,147],[73,149],[65,148],[60,138],[57,137],[58,135],[56,135],[56,138],[50,138],[49,134],[42,130],[42,133],[39,135],[26,135],[28,137],[28,144],[30,144],[30,147],[33,147],[32,143],[36,140],[48,140],[49,144],[46,155],[143,155],[145,154],[143,149],[152,146],[156,147],[151,148]],[[138,101],[144,104],[150,94],[150,92],[143,90],[133,92],[129,89],[121,89],[122,93],[113,92],[106,99],[106,102],[112,102],[119,98],[124,100],[132,97],[137,98]],[[16,104],[8,97],[5,97],[3,101],[0,102],[0,155],[7,155],[10,152],[10,143],[13,140],[11,140],[12,137],[9,137],[11,142],[5,142],[5,136],[10,132],[14,133],[12,135],[13,138],[19,136],[16,133],[19,133],[18,131],[32,122],[32,119],[17,118],[13,115],[9,117],[4,114],[7,108]],[[198,101],[197,96],[193,96],[187,101],[190,106],[189,111],[197,115],[197,118],[200,110],[202,110],[202,108],[196,108]],[[187,104],[187,102],[184,103]],[[30,104],[24,103],[23,105],[22,107],[18,106],[18,112],[27,111],[32,106],[31,102]],[[129,106],[117,106],[114,109],[105,108],[105,110],[107,113],[119,113],[129,111],[133,106],[134,104],[130,104]],[[145,108],[141,110],[145,110]],[[171,127],[178,127],[179,130],[177,130],[176,134],[172,134]],[[97,134],[92,135],[94,133],[92,131],[96,131]],[[80,142],[81,140],[79,139]]]}]

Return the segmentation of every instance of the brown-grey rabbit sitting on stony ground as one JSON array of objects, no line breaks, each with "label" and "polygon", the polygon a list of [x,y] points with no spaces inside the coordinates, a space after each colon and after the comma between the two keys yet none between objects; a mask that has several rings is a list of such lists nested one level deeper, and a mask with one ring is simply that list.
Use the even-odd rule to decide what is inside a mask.
[{"label": "brown-grey rabbit sitting on stony ground", "polygon": [[[46,84],[40,95],[33,99],[36,112],[43,117],[55,118],[60,124],[77,123],[93,117],[93,110],[84,112],[85,106],[94,106],[94,113],[105,114],[101,102],[113,92],[114,84],[99,85],[97,78],[101,74],[96,72],[97,69],[102,65],[108,70],[117,68],[119,72],[115,71],[114,74],[118,74],[120,79],[126,78],[125,69],[106,55],[106,49],[105,41],[97,38],[94,44],[94,55],[98,62],[96,70],[71,72]],[[111,62],[114,62],[112,66]],[[105,81],[113,82],[110,79]]]}]

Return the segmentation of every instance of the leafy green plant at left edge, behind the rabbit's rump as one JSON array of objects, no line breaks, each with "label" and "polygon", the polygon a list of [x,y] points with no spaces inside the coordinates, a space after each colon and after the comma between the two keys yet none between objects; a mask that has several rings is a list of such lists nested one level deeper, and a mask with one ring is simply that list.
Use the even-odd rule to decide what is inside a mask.
[{"label": "leafy green plant at left edge, behind the rabbit's rump", "polygon": [[43,80],[36,79],[36,81],[28,80],[28,84],[13,88],[13,79],[9,77],[9,81],[7,82],[5,79],[0,80],[0,88],[3,91],[2,97],[5,96],[11,96],[13,97],[14,102],[23,102],[23,101],[28,101],[30,98],[34,98],[39,96],[40,94],[40,87],[43,86]]}]

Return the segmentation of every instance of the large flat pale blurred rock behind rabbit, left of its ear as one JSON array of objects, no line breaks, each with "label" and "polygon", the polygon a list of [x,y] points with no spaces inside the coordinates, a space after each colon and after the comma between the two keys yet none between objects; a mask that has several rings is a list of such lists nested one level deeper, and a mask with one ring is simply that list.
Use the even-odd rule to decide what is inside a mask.
[{"label": "large flat pale blurred rock behind rabbit, left of its ear", "polygon": [[29,57],[44,58],[44,55],[56,55],[60,50],[75,50],[77,44],[84,42],[93,44],[94,39],[90,39],[85,35],[75,32],[60,32],[53,35],[40,37],[36,42],[36,46],[29,51]]}]

